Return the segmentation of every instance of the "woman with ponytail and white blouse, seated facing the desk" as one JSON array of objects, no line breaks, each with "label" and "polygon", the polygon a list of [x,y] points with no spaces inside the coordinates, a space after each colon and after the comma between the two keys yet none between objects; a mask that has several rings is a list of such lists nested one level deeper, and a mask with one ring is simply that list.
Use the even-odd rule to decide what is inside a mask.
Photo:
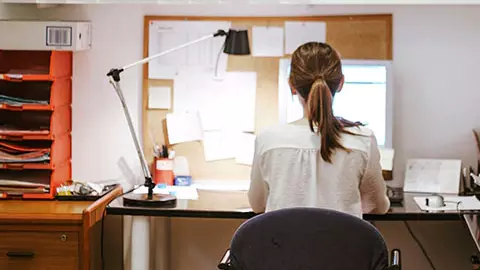
[{"label": "woman with ponytail and white blouse, seated facing the desk", "polygon": [[374,134],[333,114],[343,82],[331,46],[309,42],[293,53],[289,84],[306,117],[257,136],[248,192],[253,211],[320,207],[360,218],[388,211]]}]

